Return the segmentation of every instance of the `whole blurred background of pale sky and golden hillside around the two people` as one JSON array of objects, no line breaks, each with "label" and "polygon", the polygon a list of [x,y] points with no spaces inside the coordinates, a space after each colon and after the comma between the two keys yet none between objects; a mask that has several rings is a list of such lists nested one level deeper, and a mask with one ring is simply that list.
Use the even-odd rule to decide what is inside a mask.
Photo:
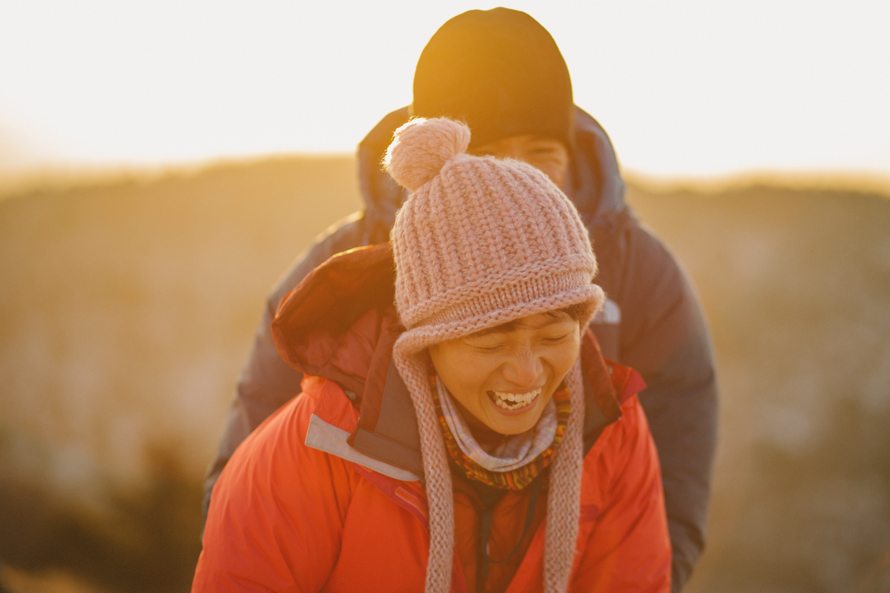
[{"label": "whole blurred background of pale sky and golden hillside around the two people", "polygon": [[[689,593],[890,591],[890,10],[516,2],[702,298]],[[467,2],[0,2],[0,591],[173,593],[266,293]]]}]

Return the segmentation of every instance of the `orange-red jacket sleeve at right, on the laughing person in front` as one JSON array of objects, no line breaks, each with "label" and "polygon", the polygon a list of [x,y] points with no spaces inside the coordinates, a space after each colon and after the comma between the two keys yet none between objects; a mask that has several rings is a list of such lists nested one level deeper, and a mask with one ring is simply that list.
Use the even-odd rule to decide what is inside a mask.
[{"label": "orange-red jacket sleeve at right, on the laughing person in front", "polygon": [[[598,483],[601,507],[575,570],[574,591],[667,593],[671,548],[658,454],[636,397],[600,438],[606,446],[585,475]],[[585,462],[585,463],[589,463]]]}]

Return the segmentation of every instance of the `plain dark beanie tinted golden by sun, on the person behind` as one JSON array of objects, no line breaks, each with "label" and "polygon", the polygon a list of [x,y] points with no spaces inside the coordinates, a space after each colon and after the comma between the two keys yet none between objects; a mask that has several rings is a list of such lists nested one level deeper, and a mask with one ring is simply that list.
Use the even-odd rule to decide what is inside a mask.
[{"label": "plain dark beanie tinted golden by sun, on the person behind", "polygon": [[429,40],[414,72],[411,114],[465,121],[470,149],[509,136],[572,145],[572,82],[553,37],[517,10],[470,10]]}]

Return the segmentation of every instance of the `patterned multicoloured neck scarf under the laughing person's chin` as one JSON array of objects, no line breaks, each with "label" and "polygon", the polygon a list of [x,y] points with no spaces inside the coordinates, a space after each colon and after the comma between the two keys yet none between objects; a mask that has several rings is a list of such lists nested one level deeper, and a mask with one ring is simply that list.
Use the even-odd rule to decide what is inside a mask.
[{"label": "patterned multicoloured neck scarf under the laughing person's chin", "polygon": [[[503,450],[512,450],[520,452],[529,452],[530,455],[521,456],[516,459],[501,460],[504,463],[498,464],[498,458],[485,453],[482,447],[473,438],[466,421],[461,417],[461,413],[456,409],[452,402],[448,401],[451,395],[442,385],[442,382],[436,376],[430,377],[432,382],[433,402],[436,407],[436,415],[439,418],[439,426],[442,429],[442,437],[445,441],[445,450],[451,458],[452,463],[469,479],[482,482],[493,488],[502,490],[522,490],[532,483],[536,477],[546,469],[553,461],[556,454],[556,448],[562,441],[566,432],[566,423],[568,422],[569,413],[572,405],[569,401],[569,390],[561,386],[554,394],[552,401],[548,404],[548,410],[542,414],[538,421],[546,423],[546,417],[549,416],[550,421],[553,420],[552,407],[555,406],[555,429],[552,430],[552,440],[543,447],[535,447],[531,441],[535,431],[539,434],[549,436],[551,430],[547,427],[536,426],[532,434],[525,433],[515,435],[508,439],[506,447]],[[548,414],[549,411],[549,414]],[[539,430],[543,428],[543,430]],[[458,436],[455,436],[457,433]],[[512,442],[511,442],[512,441]],[[520,453],[520,455],[522,455]],[[485,463],[489,467],[480,464],[479,461],[488,461],[484,457],[493,458],[494,464],[500,465],[499,469],[489,469],[495,467],[492,463]]]}]

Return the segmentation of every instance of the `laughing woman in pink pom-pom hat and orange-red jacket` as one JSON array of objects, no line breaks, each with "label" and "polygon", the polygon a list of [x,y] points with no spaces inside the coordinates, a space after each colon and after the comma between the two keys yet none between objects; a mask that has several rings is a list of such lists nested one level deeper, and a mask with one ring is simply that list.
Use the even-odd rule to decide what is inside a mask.
[{"label": "laughing woman in pink pom-pom hat and orange-red jacket", "polygon": [[303,393],[220,477],[193,591],[669,590],[642,382],[585,331],[587,231],[542,173],[469,139],[399,128],[386,166],[412,194],[390,244],[282,303]]}]

